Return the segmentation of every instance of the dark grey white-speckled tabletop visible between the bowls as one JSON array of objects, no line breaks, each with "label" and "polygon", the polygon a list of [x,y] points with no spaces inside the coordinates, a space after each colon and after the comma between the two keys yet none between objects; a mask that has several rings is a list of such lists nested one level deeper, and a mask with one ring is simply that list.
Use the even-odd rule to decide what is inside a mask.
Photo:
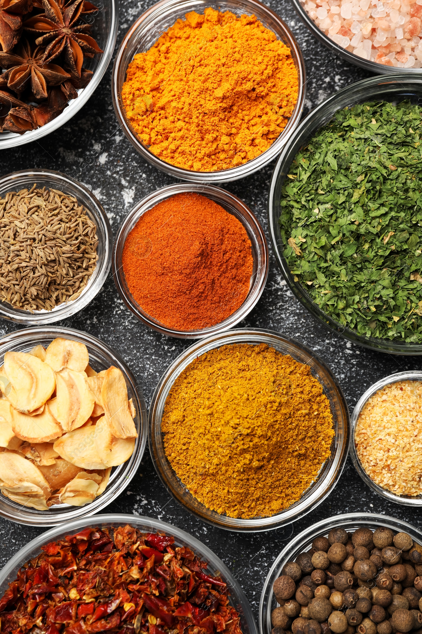
[{"label": "dark grey white-speckled tabletop visible between the bowls", "polygon": [[[121,1],[118,44],[133,20],[151,4],[152,0]],[[368,77],[359,68],[333,58],[332,53],[305,29],[288,0],[268,4],[287,22],[302,48],[307,70],[306,112],[333,91]],[[111,68],[112,65],[94,96],[64,127],[41,139],[40,143],[2,152],[0,171],[6,174],[18,169],[45,167],[70,174],[94,191],[116,233],[135,202],[147,193],[170,184],[172,179],[140,159],[119,129],[111,103]],[[273,165],[268,165],[251,178],[225,185],[251,207],[264,230],[267,229],[266,203],[272,169]],[[266,233],[269,239],[268,231]],[[141,325],[123,306],[111,275],[96,299],[62,325],[86,330],[114,347],[137,377],[147,404],[166,367],[189,346],[189,342],[168,339]],[[392,372],[419,369],[422,365],[421,358],[373,353],[325,330],[294,298],[276,268],[272,254],[263,296],[247,320],[239,326],[278,330],[311,347],[337,375],[351,410],[364,390],[376,380]],[[2,321],[0,335],[18,328],[20,326]],[[229,540],[227,531],[197,520],[171,498],[152,467],[148,450],[136,477],[106,509],[110,513],[149,515],[192,533],[232,569],[256,616],[268,569],[290,538],[324,517],[354,511],[383,513],[404,519],[414,526],[422,524],[418,512],[387,503],[372,493],[348,460],[332,494],[301,521],[268,533],[232,533]],[[43,529],[0,519],[1,565],[42,532]]]}]

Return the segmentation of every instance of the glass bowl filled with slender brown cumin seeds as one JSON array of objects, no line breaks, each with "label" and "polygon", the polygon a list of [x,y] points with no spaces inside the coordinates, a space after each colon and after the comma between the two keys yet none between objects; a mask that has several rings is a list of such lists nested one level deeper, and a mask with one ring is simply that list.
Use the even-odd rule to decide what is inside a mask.
[{"label": "glass bowl filled with slender brown cumin seeds", "polygon": [[25,325],[87,306],[111,264],[97,198],[66,174],[23,170],[0,179],[0,315]]}]

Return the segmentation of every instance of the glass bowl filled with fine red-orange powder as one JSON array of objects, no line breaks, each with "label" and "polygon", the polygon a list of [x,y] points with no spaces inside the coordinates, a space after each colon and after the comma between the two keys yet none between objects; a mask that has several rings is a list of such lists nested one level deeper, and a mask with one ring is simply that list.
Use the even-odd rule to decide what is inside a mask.
[{"label": "glass bowl filled with fine red-orange powder", "polygon": [[130,210],[112,267],[121,299],[140,321],[198,339],[251,312],[268,276],[268,247],[258,220],[232,193],[173,184]]}]

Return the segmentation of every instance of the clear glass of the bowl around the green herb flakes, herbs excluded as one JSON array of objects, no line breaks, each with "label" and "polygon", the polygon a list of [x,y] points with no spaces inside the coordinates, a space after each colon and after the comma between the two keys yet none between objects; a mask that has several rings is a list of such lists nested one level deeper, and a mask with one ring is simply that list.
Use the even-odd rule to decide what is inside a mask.
[{"label": "clear glass of the bowl around the green herb flakes, herbs excluded", "polygon": [[345,328],[338,321],[333,320],[328,314],[314,304],[306,289],[299,282],[294,281],[294,275],[290,273],[289,265],[283,255],[283,240],[280,232],[279,218],[281,214],[280,200],[284,179],[289,173],[290,165],[299,150],[304,147],[307,141],[320,127],[325,126],[333,118],[337,110],[352,106],[356,103],[364,103],[370,100],[383,100],[399,102],[407,99],[413,103],[420,103],[422,98],[422,83],[420,79],[409,75],[397,74],[390,77],[370,77],[363,81],[347,86],[338,93],[334,93],[304,119],[300,126],[290,136],[282,150],[280,158],[276,162],[273,176],[270,183],[270,194],[268,196],[268,224],[271,236],[271,245],[275,253],[278,266],[283,273],[287,284],[307,308],[309,313],[325,327],[335,333],[339,333],[345,339],[378,352],[390,354],[422,354],[421,344],[411,344],[399,340],[375,339],[375,337],[364,337],[354,330]]}]

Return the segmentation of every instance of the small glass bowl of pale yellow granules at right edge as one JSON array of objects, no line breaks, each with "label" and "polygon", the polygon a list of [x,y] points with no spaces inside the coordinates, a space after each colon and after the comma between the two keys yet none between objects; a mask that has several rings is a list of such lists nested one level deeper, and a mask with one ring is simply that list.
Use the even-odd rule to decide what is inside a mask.
[{"label": "small glass bowl of pale yellow granules at right edge", "polygon": [[365,484],[387,500],[422,507],[422,372],[371,385],[352,420],[351,457]]}]

